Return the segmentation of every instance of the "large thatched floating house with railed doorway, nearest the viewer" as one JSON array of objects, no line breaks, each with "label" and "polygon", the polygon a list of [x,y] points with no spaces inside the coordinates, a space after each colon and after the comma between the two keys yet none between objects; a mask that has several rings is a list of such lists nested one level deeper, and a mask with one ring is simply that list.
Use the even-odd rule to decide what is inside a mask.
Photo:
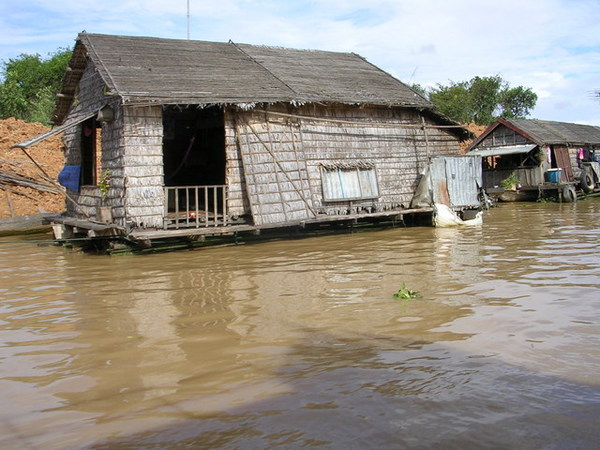
[{"label": "large thatched floating house with railed doorway, nearest the viewer", "polygon": [[54,122],[55,223],[148,242],[410,213],[472,137],[353,53],[88,33]]}]

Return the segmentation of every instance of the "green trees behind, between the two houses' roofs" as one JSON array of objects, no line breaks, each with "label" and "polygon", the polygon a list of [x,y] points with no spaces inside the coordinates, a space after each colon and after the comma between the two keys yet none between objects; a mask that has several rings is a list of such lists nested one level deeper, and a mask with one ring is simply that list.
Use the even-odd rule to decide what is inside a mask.
[{"label": "green trees behind, between the two houses' roofs", "polygon": [[499,75],[474,77],[449,86],[438,84],[429,99],[451,119],[489,125],[498,117],[524,119],[535,107],[537,95],[529,88],[509,87]]}]

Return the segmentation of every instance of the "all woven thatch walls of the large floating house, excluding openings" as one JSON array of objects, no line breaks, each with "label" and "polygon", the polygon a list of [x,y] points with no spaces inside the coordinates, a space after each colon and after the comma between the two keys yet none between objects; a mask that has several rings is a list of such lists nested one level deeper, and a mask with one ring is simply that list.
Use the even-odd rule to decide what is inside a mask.
[{"label": "all woven thatch walls of the large floating house, excluding openings", "polygon": [[[82,77],[80,90],[98,105],[106,102],[93,70]],[[117,224],[160,228],[165,201],[162,108],[113,107],[115,120],[103,124],[101,132],[101,164],[111,170],[104,204],[112,207]],[[226,108],[228,214],[251,215],[261,225],[408,207],[428,156],[459,153],[454,135],[435,127],[424,131],[421,120],[418,112],[401,108]],[[66,133],[65,142],[67,163],[78,164],[79,127]],[[324,202],[322,167],[361,163],[375,167],[379,198]],[[100,204],[96,187],[82,187],[75,200],[69,202],[71,213],[95,217]]]}]

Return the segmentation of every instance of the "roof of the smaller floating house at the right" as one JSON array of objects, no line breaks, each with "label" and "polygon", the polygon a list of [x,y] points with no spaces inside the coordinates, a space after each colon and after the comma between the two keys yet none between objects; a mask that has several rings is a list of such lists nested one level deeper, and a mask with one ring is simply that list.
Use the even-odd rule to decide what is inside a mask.
[{"label": "roof of the smaller floating house at the right", "polygon": [[537,145],[600,145],[600,127],[549,120],[498,119],[469,148],[476,148],[479,143],[502,125],[516,131]]}]

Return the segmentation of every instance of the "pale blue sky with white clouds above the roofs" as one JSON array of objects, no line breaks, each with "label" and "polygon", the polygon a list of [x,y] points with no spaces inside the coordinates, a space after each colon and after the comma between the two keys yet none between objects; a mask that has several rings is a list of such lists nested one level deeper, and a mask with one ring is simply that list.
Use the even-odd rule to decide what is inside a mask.
[{"label": "pale blue sky with white clouds above the roofs", "polygon": [[499,75],[538,95],[530,118],[600,126],[600,0],[0,0],[0,61],[81,31],[187,39],[188,24],[195,40],[358,53],[423,87]]}]

